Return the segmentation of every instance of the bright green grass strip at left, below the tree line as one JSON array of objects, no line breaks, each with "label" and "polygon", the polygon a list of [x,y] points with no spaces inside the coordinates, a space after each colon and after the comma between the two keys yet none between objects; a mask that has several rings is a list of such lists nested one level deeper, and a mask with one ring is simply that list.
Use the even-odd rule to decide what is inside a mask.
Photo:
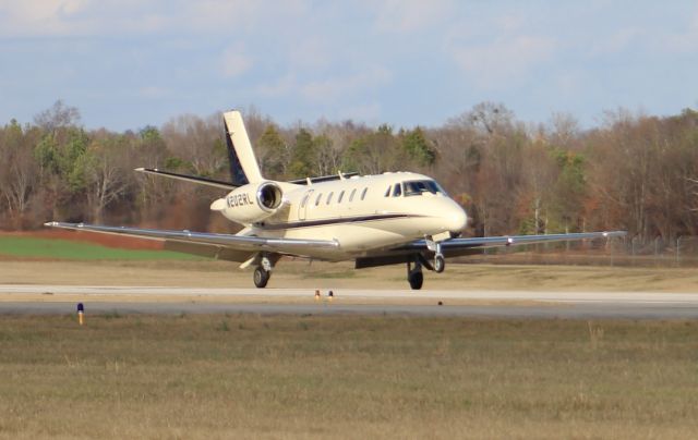
[{"label": "bright green grass strip at left, below the tree line", "polygon": [[0,256],[70,260],[197,260],[200,257],[169,252],[121,249],[86,242],[0,236]]}]

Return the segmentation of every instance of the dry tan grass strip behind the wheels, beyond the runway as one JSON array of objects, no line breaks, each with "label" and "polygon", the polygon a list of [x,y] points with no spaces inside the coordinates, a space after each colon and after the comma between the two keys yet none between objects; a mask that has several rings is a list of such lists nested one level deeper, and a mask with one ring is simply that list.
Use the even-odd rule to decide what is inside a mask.
[{"label": "dry tan grass strip behind the wheels, beyond the runway", "polygon": [[[252,288],[251,271],[226,261],[0,261],[0,284]],[[408,289],[402,265],[282,260],[269,288]],[[682,268],[449,264],[425,272],[424,289],[696,292],[698,271]]]}]

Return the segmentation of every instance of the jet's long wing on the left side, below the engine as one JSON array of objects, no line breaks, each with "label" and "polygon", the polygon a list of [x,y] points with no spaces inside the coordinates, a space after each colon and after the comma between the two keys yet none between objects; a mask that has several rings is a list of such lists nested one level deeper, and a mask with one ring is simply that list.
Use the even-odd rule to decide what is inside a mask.
[{"label": "jet's long wing on the left side, below the engine", "polygon": [[286,255],[304,255],[309,249],[336,248],[339,243],[328,240],[298,240],[298,239],[263,239],[258,236],[217,234],[210,232],[172,231],[158,229],[142,229],[127,227],[104,227],[84,223],[64,223],[51,221],[44,223],[49,228],[89,231],[103,234],[116,234],[139,239],[165,242],[165,248],[217,257],[232,261],[245,261],[250,255],[260,250],[274,252]]}]

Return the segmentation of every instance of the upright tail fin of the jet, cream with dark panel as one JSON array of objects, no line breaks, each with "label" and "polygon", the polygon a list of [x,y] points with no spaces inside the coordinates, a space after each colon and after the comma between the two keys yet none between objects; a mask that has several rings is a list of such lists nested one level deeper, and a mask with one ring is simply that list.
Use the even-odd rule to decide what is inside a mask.
[{"label": "upright tail fin of the jet, cream with dark panel", "polygon": [[222,113],[222,121],[226,127],[226,143],[228,144],[232,183],[244,185],[264,181],[240,112],[237,110],[227,111]]}]

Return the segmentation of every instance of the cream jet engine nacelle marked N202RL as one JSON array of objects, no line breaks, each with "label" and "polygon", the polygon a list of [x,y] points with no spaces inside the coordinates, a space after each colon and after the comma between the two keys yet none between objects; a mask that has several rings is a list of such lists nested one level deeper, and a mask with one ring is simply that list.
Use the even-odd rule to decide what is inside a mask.
[{"label": "cream jet engine nacelle marked N202RL", "polygon": [[210,205],[236,223],[256,223],[273,216],[281,206],[284,193],[274,182],[250,183]]}]

